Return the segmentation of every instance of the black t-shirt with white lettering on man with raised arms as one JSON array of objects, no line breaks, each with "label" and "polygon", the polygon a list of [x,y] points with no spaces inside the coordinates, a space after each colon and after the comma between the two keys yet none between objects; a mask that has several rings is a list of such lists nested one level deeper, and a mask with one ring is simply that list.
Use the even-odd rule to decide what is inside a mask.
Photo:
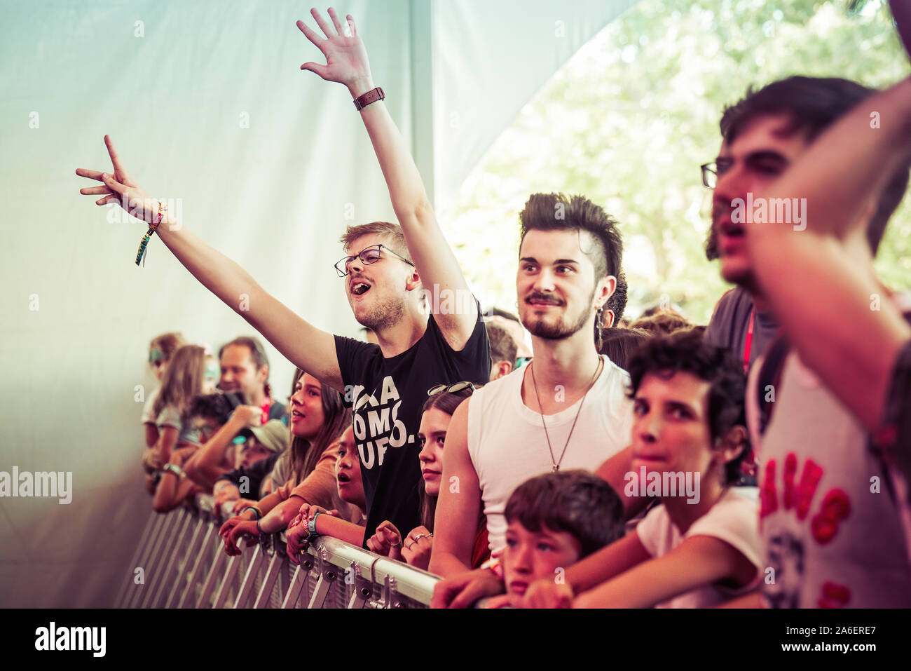
[{"label": "black t-shirt with white lettering on man with raised arms", "polygon": [[401,533],[420,522],[417,429],[427,389],[439,384],[490,379],[490,343],[478,310],[466,346],[453,351],[434,315],[414,346],[385,358],[378,345],[335,336],[335,353],[345,385],[345,403],[353,409],[354,440],[361,456],[363,493],[370,538],[384,520]]}]

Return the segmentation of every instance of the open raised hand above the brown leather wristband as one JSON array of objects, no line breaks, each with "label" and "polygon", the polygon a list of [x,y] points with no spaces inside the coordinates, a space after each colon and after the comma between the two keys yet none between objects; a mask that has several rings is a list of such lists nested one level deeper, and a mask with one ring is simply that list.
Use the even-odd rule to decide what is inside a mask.
[{"label": "open raised hand above the brown leather wristband", "polygon": [[[322,51],[326,57],[326,65],[320,63],[304,63],[302,70],[310,70],[325,79],[326,81],[337,81],[344,84],[352,90],[352,95],[357,96],[373,88],[373,77],[370,75],[370,63],[367,60],[367,50],[363,47],[361,37],[357,35],[357,28],[354,26],[352,15],[345,18],[348,22],[349,35],[345,35],[344,26],[339,21],[335,10],[329,8],[329,17],[333,20],[333,26],[322,17],[322,14],[316,9],[311,9],[310,13],[320,26],[323,38],[315,30],[312,30],[303,21],[297,22],[297,27],[307,36],[316,48]],[[363,88],[364,90],[360,90]]]}]

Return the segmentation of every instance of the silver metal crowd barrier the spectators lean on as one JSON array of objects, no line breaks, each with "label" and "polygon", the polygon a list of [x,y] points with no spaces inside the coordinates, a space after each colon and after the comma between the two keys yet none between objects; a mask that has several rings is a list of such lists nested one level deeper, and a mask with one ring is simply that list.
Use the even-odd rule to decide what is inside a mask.
[{"label": "silver metal crowd barrier the spectators lean on", "polygon": [[229,557],[210,495],[153,512],[118,593],[118,608],[426,608],[438,577],[322,537],[295,566],[283,534],[244,541]]}]

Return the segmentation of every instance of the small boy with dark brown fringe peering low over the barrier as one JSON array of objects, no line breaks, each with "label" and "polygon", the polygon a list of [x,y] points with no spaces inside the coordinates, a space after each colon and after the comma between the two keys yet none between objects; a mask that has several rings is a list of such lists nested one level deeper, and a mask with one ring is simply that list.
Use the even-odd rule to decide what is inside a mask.
[{"label": "small boy with dark brown fringe peering low over the barrier", "polygon": [[509,497],[506,519],[506,549],[494,571],[507,594],[491,599],[490,608],[517,604],[536,580],[562,584],[565,567],[616,541],[624,528],[617,492],[585,470],[526,480]]}]

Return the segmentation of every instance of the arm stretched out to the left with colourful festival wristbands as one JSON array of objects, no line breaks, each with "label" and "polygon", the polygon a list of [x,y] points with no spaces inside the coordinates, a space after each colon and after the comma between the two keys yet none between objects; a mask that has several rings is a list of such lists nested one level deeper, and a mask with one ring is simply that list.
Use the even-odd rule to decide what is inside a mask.
[{"label": "arm stretched out to the left with colourful festival wristbands", "polygon": [[[87,187],[79,192],[101,196],[96,201],[98,205],[117,202],[144,222],[159,221],[159,202],[149,197],[148,192],[124,168],[107,135],[105,144],[114,166],[113,173],[79,168],[76,174],[80,177],[102,182],[101,186]],[[295,315],[268,294],[240,265],[189,232],[172,213],[164,212],[157,233],[161,242],[190,274],[246,319],[292,364],[343,391],[332,334]]]}]

